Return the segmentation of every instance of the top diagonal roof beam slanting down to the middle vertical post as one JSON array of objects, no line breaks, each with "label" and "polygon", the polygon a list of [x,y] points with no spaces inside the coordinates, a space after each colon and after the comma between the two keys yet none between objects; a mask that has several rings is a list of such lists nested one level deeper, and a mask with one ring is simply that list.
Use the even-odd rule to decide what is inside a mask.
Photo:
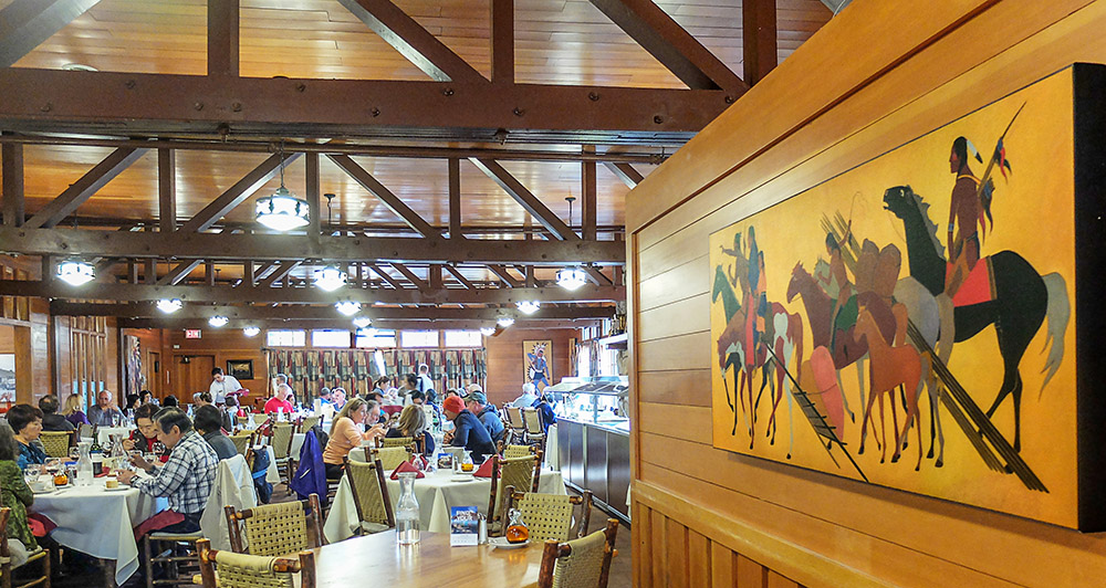
[{"label": "top diagonal roof beam slanting down to the middle vertical post", "polygon": [[338,0],[386,43],[436,82],[487,82],[390,0]]}]

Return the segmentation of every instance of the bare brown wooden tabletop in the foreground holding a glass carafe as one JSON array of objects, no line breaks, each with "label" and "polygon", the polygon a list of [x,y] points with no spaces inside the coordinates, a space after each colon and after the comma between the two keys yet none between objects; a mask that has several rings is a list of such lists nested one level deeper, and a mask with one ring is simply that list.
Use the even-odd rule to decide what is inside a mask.
[{"label": "bare brown wooden tabletop in the foreground holding a glass carafe", "polygon": [[416,545],[398,545],[395,531],[354,537],[312,549],[315,586],[534,587],[541,543],[504,549],[490,544],[450,547],[449,533],[421,533]]}]

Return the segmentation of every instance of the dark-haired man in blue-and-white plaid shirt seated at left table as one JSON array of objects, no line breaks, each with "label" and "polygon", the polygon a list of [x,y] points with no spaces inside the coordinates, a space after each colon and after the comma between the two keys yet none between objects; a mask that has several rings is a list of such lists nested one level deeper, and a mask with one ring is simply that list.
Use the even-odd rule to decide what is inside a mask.
[{"label": "dark-haired man in blue-and-white plaid shirt seated at left table", "polygon": [[173,450],[169,461],[158,466],[142,456],[134,456],[131,463],[145,470],[152,477],[139,479],[134,472],[119,472],[119,482],[131,484],[144,494],[168,498],[169,511],[184,517],[179,523],[158,527],[160,531],[197,532],[200,529],[204,507],[215,486],[219,458],[211,445],[192,430],[192,423],[182,410],[163,408],[154,416],[154,424],[158,441]]}]

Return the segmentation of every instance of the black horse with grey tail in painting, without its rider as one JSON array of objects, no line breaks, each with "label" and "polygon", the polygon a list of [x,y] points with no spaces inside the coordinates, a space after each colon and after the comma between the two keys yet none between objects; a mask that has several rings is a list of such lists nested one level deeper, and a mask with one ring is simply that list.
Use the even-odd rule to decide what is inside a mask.
[{"label": "black horse with grey tail in painting, without its rider", "polygon": [[[929,204],[922,202],[921,197],[915,195],[909,186],[889,188],[884,192],[884,203],[887,210],[902,220],[910,275],[933,296],[943,294],[947,262],[943,248],[937,240],[937,225],[927,213]],[[1064,357],[1064,332],[1071,315],[1067,286],[1060,274],[1042,276],[1013,251],[1000,251],[988,259],[994,281],[994,300],[957,307],[953,340],[968,340],[988,325],[994,325],[999,353],[1002,355],[1003,377],[1002,387],[988,409],[987,417],[994,413],[1008,395],[1013,395],[1014,451],[1020,452],[1022,377],[1018,367],[1030,340],[1047,317],[1052,345],[1045,364],[1047,375],[1044,382],[1047,384],[1060,369]],[[985,262],[987,260],[980,260],[980,263]]]}]

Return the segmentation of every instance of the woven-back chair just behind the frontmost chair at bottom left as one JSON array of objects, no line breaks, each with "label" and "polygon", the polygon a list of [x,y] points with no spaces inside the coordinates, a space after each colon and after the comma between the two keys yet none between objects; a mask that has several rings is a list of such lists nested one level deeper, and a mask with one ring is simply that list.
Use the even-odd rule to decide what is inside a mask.
[{"label": "woven-back chair just behind the frontmost chair at bottom left", "polygon": [[[317,494],[307,496],[305,501],[263,504],[244,511],[226,506],[223,511],[227,514],[230,548],[234,553],[246,553],[243,535],[250,554],[260,556],[280,557],[322,546],[323,516]],[[244,532],[239,526],[239,521],[243,522]],[[307,533],[309,524],[311,534]],[[309,539],[311,535],[314,536],[313,542]]]}]

